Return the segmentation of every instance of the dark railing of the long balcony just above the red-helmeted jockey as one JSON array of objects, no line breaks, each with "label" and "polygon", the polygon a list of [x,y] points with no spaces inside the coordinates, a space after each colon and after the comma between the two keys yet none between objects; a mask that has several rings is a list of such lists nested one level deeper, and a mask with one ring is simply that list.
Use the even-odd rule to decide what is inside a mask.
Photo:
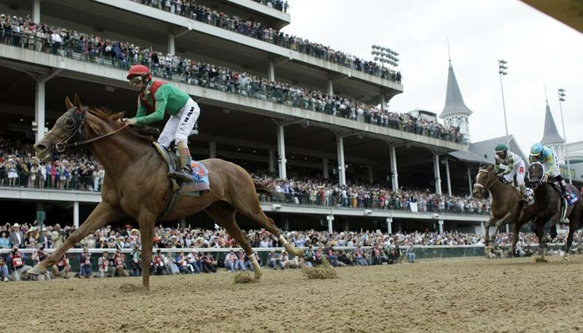
[{"label": "dark railing of the long balcony just above the red-helmeted jockey", "polygon": [[352,119],[353,121],[370,123],[371,125],[388,127],[403,132],[432,137],[434,139],[461,144],[466,143],[461,134],[456,134],[452,129],[444,129],[437,123],[423,125],[422,123],[406,118],[406,115],[399,115],[394,112],[381,114],[376,109],[374,112],[365,110],[364,113],[359,113],[354,108],[342,109],[335,102],[315,100],[308,95],[300,95],[291,90],[283,90],[281,87],[276,87],[269,83],[266,84],[263,81],[260,82],[252,79],[242,80],[241,77],[236,79],[232,75],[210,73],[205,70],[200,70],[200,66],[184,66],[183,62],[180,62],[176,67],[162,65],[160,62],[156,62],[155,59],[145,54],[131,56],[129,54],[124,55],[120,51],[116,55],[113,51],[90,47],[87,41],[71,39],[64,43],[59,43],[47,38],[37,38],[20,33],[6,33],[0,30],[0,42],[33,51],[64,56],[78,61],[113,66],[123,70],[128,70],[130,66],[136,64],[147,65],[150,67],[154,76],[163,77],[165,80],[220,90],[224,93],[240,94],[258,100],[339,116]]}]

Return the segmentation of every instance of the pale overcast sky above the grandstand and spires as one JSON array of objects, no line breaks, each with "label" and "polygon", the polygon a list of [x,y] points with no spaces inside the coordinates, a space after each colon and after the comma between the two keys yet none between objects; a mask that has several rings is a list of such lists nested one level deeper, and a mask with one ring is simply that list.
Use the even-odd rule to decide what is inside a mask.
[{"label": "pale overcast sky above the grandstand and spires", "polygon": [[521,1],[288,1],[287,33],[366,59],[372,59],[371,44],[399,52],[405,92],[390,101],[393,111],[423,108],[440,114],[449,38],[463,100],[473,111],[472,141],[505,133],[498,59],[508,62],[503,77],[508,132],[526,154],[542,139],[544,83],[561,136],[559,87],[567,94],[567,139],[583,140],[583,34]]}]

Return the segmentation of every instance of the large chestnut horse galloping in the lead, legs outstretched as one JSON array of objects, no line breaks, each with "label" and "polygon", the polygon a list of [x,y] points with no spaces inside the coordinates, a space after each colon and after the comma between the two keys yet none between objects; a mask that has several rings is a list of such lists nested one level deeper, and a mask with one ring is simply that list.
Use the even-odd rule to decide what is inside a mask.
[{"label": "large chestnut horse galloping in the lead, legs outstretched", "polygon": [[[43,139],[34,144],[34,150],[37,157],[47,160],[55,151],[87,144],[106,171],[101,187],[102,201],[63,245],[33,267],[29,274],[45,274],[62,254],[97,228],[122,217],[131,217],[138,222],[141,232],[142,285],[149,289],[153,228],[172,189],[166,164],[154,150],[152,138],[140,135],[121,122],[123,113],[85,107],[77,95],[74,104],[67,97],[65,105],[68,111]],[[278,193],[254,181],[247,171],[231,162],[217,158],[201,162],[209,171],[210,190],[199,197],[182,196],[166,219],[187,217],[204,210],[243,247],[254,265],[256,279],[261,277],[261,268],[250,240],[235,221],[237,212],[269,231],[289,253],[295,256],[303,254],[302,250],[287,242],[259,205],[257,192],[272,196]]]}]

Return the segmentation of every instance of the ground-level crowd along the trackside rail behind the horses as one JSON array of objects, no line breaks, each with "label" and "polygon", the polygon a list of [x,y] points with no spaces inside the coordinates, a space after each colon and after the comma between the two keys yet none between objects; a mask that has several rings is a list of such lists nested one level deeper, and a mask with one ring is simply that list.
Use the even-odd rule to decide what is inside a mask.
[{"label": "ground-level crowd along the trackside rail behind the horses", "polygon": [[[0,278],[4,281],[10,278],[19,279],[22,272],[30,268],[25,263],[27,255],[20,249],[34,249],[30,260],[37,264],[48,256],[47,249],[61,246],[73,231],[75,229],[72,227],[61,228],[59,224],[55,224],[46,226],[41,232],[36,221],[33,224],[15,223],[0,226],[0,249],[10,249],[8,256],[0,256],[2,257]],[[264,229],[249,230],[247,235],[252,247],[279,247],[278,241]],[[393,264],[401,262],[403,253],[409,262],[414,262],[416,245],[483,245],[483,235],[457,231],[438,233],[427,230],[388,234],[379,230],[332,233],[309,230],[286,232],[286,236],[295,246],[306,248],[304,256],[293,257],[285,251],[270,250],[265,263],[261,262],[261,256],[258,256],[261,265],[274,270],[278,268],[284,270],[321,264],[323,258],[333,266]],[[580,235],[576,236],[577,238],[580,238]],[[566,235],[560,234],[555,242],[561,243],[565,239]],[[224,257],[212,254],[213,249],[239,246],[236,240],[217,225],[214,230],[157,226],[154,228],[153,240],[154,255],[149,267],[152,274],[210,273],[216,272],[217,267],[224,267],[231,272],[252,270],[251,262],[243,250],[231,249]],[[494,240],[494,247],[500,249],[502,246],[510,245],[511,242],[511,234],[500,233]],[[529,251],[529,246],[535,242],[538,242],[538,239],[533,233],[520,233],[517,254],[524,256],[525,251]],[[79,278],[138,276],[142,273],[140,235],[138,229],[132,228],[131,225],[125,225],[124,228],[105,226],[87,236],[75,247],[83,248],[83,253],[79,256],[80,268],[77,275]],[[351,249],[344,250],[339,247]],[[103,251],[97,261],[92,261],[89,249],[115,249],[115,253],[111,256],[108,251]],[[124,249],[131,249],[128,260],[122,253]],[[579,244],[577,251],[581,250],[583,249]],[[69,277],[71,256],[75,254],[59,258],[51,270],[53,277]]]}]

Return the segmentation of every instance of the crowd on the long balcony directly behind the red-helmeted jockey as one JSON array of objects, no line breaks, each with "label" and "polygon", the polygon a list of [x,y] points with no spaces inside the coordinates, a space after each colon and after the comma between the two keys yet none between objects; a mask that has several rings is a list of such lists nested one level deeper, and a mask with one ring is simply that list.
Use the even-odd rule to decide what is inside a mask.
[{"label": "crowd on the long balcony directly behind the red-helmeted jockey", "polygon": [[[181,58],[142,48],[129,42],[103,39],[47,24],[34,24],[30,17],[0,15],[0,41],[37,51],[52,52],[82,61],[111,63],[122,69],[141,63],[156,76],[196,86],[242,94],[279,104],[310,109],[354,121],[390,127],[437,139],[463,142],[458,127],[446,127],[410,114],[381,109],[340,95],[325,94],[284,82],[269,81],[223,66]],[[400,73],[395,74],[399,77]],[[396,80],[396,79],[395,79]]]}]

